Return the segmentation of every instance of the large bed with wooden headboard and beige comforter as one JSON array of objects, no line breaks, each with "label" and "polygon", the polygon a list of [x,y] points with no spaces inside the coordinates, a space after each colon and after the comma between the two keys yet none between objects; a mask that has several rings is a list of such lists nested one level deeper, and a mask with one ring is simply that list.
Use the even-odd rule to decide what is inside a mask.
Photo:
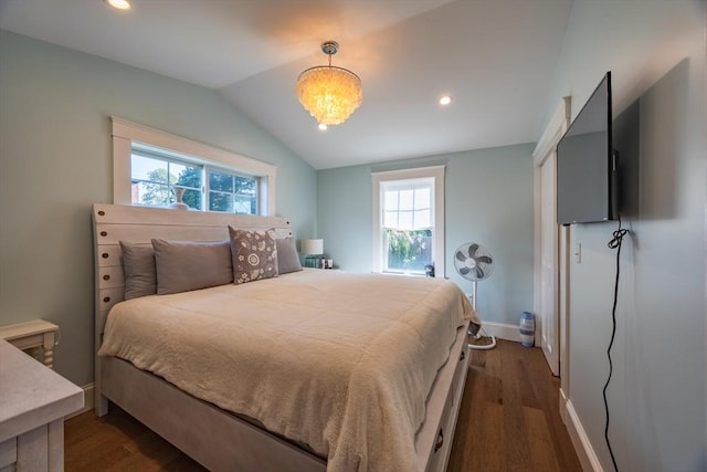
[{"label": "large bed with wooden headboard and beige comforter", "polygon": [[452,282],[304,270],[125,298],[122,241],[223,241],[286,219],[94,204],[96,413],[211,470],[446,468],[476,321]]}]

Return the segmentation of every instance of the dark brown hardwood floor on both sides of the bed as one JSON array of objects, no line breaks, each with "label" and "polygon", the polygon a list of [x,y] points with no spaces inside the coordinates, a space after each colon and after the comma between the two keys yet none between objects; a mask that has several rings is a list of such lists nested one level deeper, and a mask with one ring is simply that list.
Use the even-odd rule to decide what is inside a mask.
[{"label": "dark brown hardwood floor on both sides of the bed", "polygon": [[[499,340],[469,366],[449,472],[581,471],[539,348]],[[204,470],[114,406],[67,420],[64,442],[67,472]]]}]

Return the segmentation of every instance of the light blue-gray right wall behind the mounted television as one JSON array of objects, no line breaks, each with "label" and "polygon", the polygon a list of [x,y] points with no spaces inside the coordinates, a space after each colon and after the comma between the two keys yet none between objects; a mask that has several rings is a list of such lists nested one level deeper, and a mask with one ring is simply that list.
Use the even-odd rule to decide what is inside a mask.
[{"label": "light blue-gray right wall behind the mounted television", "polygon": [[[601,25],[601,27],[600,27]],[[621,471],[707,469],[705,407],[705,2],[576,1],[558,64],[555,104],[576,116],[612,71],[614,116],[640,109],[639,209],[621,253],[614,373],[608,389]],[[548,107],[550,108],[550,107]],[[603,470],[602,388],[616,223],[571,228],[570,375],[566,392]]]}]

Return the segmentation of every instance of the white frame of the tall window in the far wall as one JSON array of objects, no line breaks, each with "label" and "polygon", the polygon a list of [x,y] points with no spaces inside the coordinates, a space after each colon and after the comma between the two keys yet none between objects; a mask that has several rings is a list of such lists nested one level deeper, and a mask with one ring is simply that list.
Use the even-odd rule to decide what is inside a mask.
[{"label": "white frame of the tall window in the far wall", "polygon": [[373,272],[383,270],[383,182],[394,180],[434,179],[434,192],[432,195],[432,221],[434,221],[432,262],[434,263],[434,276],[445,276],[444,264],[444,168],[445,166],[419,167],[414,169],[387,170],[371,172],[372,200],[373,200],[373,240],[372,240],[372,268]]}]

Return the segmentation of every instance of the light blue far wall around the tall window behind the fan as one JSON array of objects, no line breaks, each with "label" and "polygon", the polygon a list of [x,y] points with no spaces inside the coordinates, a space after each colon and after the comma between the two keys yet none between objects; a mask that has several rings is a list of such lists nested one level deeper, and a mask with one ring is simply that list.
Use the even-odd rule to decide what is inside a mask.
[{"label": "light blue far wall around the tall window behind the fan", "polygon": [[520,314],[532,310],[532,149],[518,145],[320,170],[317,234],[341,269],[370,272],[371,171],[445,165],[446,275],[472,292],[471,282],[454,271],[453,253],[468,241],[485,245],[495,269],[478,284],[479,315],[518,324]]}]

